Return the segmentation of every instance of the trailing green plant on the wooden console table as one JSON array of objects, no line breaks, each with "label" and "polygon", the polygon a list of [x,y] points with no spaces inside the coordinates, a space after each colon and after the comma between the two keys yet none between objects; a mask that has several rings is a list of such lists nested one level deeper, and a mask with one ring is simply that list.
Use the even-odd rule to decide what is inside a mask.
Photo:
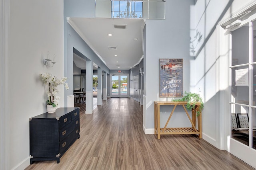
[{"label": "trailing green plant on the wooden console table", "polygon": [[192,109],[196,108],[196,103],[200,102],[200,106],[199,106],[199,111],[196,111],[196,115],[200,115],[200,112],[202,111],[202,109],[204,108],[204,102],[202,101],[202,98],[200,97],[199,94],[197,93],[191,93],[191,92],[186,92],[185,91],[185,96],[181,99],[173,99],[172,101],[174,102],[188,102],[186,104],[186,108],[190,111],[192,111]]}]

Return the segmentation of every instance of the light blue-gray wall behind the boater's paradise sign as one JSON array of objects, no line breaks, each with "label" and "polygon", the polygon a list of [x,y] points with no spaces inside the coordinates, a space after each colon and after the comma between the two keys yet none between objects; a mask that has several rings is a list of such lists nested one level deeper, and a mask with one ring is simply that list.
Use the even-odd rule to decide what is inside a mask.
[{"label": "light blue-gray wall behind the boater's paradise sign", "polygon": [[[172,98],[159,98],[159,59],[183,59],[184,91],[190,91],[190,6],[194,0],[166,1],[166,20],[147,20],[146,22],[146,75],[144,75],[144,95],[146,95],[145,115],[146,129],[154,128],[154,101],[168,101]],[[145,67],[144,67],[145,71]],[[146,79],[145,79],[146,78]],[[145,91],[146,90],[146,91]],[[160,111],[170,111],[170,107]],[[173,115],[172,127],[191,126],[186,114]],[[161,115],[161,120],[168,118],[167,113]],[[162,121],[164,122],[164,121]]]}]

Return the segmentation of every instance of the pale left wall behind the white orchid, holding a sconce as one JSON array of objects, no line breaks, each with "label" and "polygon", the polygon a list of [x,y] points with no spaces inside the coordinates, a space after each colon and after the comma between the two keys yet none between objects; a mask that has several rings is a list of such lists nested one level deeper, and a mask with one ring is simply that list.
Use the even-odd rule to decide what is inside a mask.
[{"label": "pale left wall behind the white orchid, holding a sconce", "polygon": [[[0,169],[24,170],[30,164],[29,118],[46,112],[47,94],[39,75],[49,72],[58,78],[64,76],[63,1],[1,2],[0,41],[5,48],[0,49]],[[42,62],[48,51],[50,59],[56,55],[53,67]],[[58,107],[64,107],[64,91],[72,90],[60,85],[58,91]]]}]

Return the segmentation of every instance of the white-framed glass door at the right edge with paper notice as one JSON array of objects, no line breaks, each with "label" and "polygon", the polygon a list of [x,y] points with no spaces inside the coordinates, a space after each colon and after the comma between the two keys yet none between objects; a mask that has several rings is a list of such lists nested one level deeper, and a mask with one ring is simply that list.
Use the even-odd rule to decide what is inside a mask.
[{"label": "white-framed glass door at the right edge with paper notice", "polygon": [[[230,152],[250,162],[256,156],[256,21],[230,37]],[[254,164],[254,163],[253,163]]]}]

